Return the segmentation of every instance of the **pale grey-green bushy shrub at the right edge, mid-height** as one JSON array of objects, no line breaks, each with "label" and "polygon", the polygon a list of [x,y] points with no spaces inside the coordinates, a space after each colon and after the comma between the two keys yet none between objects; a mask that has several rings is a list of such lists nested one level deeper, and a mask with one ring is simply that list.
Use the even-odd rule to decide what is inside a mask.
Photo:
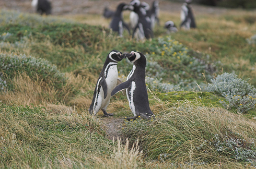
[{"label": "pale grey-green bushy shrub at the right edge, mid-height", "polygon": [[206,90],[222,95],[226,100],[220,100],[224,107],[237,108],[240,113],[255,107],[256,89],[246,80],[234,74],[224,73],[211,81]]}]

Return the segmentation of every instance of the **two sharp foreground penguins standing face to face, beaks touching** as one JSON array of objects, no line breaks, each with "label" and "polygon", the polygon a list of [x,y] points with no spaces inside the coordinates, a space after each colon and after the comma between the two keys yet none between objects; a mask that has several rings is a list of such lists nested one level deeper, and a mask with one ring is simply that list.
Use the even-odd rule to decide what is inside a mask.
[{"label": "two sharp foreground penguins standing face to face, beaks touching", "polygon": [[[128,58],[133,63],[133,68],[127,76],[125,82],[117,86],[118,81],[118,62],[123,58]],[[112,50],[103,65],[99,79],[96,83],[94,97],[89,107],[89,113],[96,115],[100,110],[104,116],[112,116],[113,114],[107,113],[107,107],[110,102],[111,96],[115,93],[126,89],[127,100],[134,117],[125,118],[133,120],[141,116],[143,119],[152,118],[155,115],[150,110],[147,88],[145,83],[146,73],[146,57],[141,52],[132,51],[130,54],[117,50]]]}]

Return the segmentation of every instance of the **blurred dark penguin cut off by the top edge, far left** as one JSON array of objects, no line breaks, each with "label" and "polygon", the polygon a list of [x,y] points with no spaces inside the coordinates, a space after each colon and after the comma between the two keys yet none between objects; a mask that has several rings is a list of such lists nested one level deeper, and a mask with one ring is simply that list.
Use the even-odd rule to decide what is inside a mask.
[{"label": "blurred dark penguin cut off by the top edge, far left", "polygon": [[49,15],[52,13],[52,6],[48,0],[33,0],[31,6],[37,9],[37,13]]}]

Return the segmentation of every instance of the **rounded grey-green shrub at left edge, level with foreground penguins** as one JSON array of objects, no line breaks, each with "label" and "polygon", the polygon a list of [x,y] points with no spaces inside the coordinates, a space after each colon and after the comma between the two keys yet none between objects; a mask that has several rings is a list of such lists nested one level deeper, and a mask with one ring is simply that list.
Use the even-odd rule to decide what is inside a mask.
[{"label": "rounded grey-green shrub at left edge, level with foreground penguins", "polygon": [[34,58],[26,55],[0,54],[0,70],[2,80],[6,81],[9,90],[13,89],[13,84],[8,81],[16,75],[25,73],[32,80],[40,79],[44,85],[61,89],[65,86],[66,77],[55,65],[42,58]]}]

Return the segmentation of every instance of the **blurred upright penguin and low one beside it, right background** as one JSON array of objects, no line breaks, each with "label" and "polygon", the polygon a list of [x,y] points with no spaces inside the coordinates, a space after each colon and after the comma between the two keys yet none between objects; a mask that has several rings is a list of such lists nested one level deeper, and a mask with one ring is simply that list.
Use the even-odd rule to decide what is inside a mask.
[{"label": "blurred upright penguin and low one beside it, right background", "polygon": [[[191,3],[192,3],[192,0],[185,0],[185,3],[181,6],[180,28],[183,28],[185,30],[190,30],[190,28],[196,28],[194,15],[193,15],[192,9],[190,7]],[[174,22],[171,20],[165,22],[165,28],[168,30],[168,33],[178,31],[176,25],[174,25]]]}]

